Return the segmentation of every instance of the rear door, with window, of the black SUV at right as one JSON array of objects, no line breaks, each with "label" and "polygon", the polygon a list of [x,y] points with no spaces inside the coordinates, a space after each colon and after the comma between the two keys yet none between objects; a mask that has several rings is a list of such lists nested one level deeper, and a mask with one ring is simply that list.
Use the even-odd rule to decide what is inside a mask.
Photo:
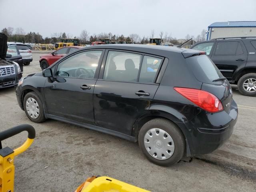
[{"label": "rear door, with window, of the black SUV at right", "polygon": [[211,59],[224,77],[233,80],[234,73],[246,65],[247,51],[241,40],[218,40]]}]

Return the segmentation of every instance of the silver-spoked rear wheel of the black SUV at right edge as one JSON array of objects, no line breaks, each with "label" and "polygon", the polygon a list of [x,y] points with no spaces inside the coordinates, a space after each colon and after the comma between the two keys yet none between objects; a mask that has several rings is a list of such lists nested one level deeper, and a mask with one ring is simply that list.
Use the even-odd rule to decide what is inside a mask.
[{"label": "silver-spoked rear wheel of the black SUV at right edge", "polygon": [[238,80],[238,90],[245,96],[256,96],[256,73],[248,73]]}]

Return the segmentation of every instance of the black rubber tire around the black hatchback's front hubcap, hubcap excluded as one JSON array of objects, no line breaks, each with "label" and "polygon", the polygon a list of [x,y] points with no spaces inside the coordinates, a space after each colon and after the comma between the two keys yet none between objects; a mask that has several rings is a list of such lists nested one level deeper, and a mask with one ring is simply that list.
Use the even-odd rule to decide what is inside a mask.
[{"label": "black rubber tire around the black hatchback's front hubcap, hubcap excluded", "polygon": [[[36,102],[38,103],[38,107],[39,107],[39,116],[37,118],[32,118],[28,112],[27,112],[27,105],[26,102],[28,100],[28,98],[33,98],[34,100],[36,100]],[[23,106],[24,106],[24,111],[27,115],[27,117],[35,123],[41,123],[44,122],[46,120],[45,116],[44,116],[44,106],[42,104],[42,101],[40,100],[40,98],[38,97],[38,95],[35,92],[29,92],[28,94],[25,95],[24,97],[24,101],[23,101]]]}]

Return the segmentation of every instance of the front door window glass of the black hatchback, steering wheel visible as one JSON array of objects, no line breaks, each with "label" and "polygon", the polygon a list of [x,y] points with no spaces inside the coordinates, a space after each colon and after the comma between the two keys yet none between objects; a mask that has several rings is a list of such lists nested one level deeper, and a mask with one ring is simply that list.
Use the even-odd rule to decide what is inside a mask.
[{"label": "front door window glass of the black hatchback, steering wheel visible", "polygon": [[56,76],[94,78],[102,51],[86,51],[67,58],[58,64]]}]

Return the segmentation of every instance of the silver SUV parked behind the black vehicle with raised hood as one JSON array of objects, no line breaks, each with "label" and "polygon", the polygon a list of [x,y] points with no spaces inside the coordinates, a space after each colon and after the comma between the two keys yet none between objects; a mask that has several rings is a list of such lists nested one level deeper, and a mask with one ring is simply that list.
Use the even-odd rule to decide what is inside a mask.
[{"label": "silver SUV parked behind the black vehicle with raised hood", "polygon": [[32,50],[28,48],[26,44],[20,43],[20,42],[7,42],[7,45],[16,45],[18,48],[20,55],[22,56],[23,64],[24,65],[29,65],[30,62],[32,62],[33,57],[32,57]]}]

